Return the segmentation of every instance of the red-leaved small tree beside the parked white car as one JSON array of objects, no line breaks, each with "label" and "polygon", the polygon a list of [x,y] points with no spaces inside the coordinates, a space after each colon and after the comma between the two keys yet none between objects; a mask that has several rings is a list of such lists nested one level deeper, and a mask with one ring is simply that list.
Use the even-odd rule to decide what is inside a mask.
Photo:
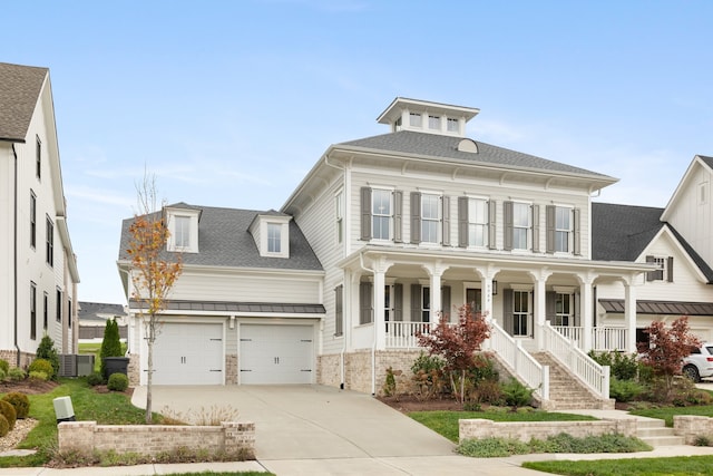
[{"label": "red-leaved small tree beside the parked white car", "polygon": [[683,358],[701,346],[701,340],[691,333],[687,315],[676,319],[671,327],[663,321],[654,321],[644,332],[648,334],[648,343],[638,343],[641,361],[663,377],[671,390],[673,377],[681,373]]}]

